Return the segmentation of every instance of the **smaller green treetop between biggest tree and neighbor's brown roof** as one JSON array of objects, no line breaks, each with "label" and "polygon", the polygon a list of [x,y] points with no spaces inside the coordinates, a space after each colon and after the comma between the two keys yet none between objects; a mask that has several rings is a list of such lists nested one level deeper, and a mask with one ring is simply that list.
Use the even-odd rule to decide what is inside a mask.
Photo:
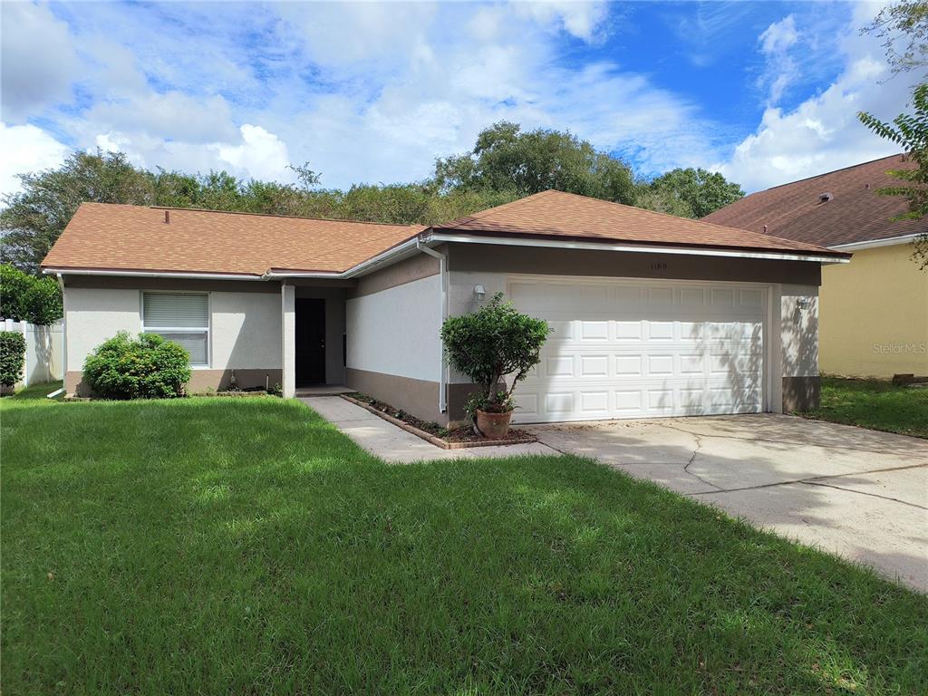
[{"label": "smaller green treetop between biggest tree and neighbor's brown roof", "polygon": [[[692,167],[672,169],[661,174],[651,181],[650,188],[657,197],[652,200],[645,197],[643,202],[651,202],[651,205],[642,207],[659,210],[652,205],[661,202],[671,209],[662,212],[696,218],[714,213],[744,196],[741,186],[728,181],[722,174]],[[641,201],[638,205],[641,205]]]}]

